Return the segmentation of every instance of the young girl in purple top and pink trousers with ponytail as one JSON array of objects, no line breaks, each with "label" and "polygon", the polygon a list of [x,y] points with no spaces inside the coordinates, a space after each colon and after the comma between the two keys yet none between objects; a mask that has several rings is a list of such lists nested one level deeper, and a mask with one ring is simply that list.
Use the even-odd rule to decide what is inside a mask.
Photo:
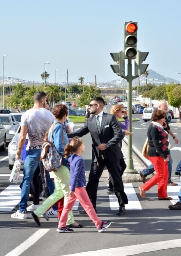
[{"label": "young girl in purple top and pink trousers with ponytail", "polygon": [[83,140],[79,137],[74,137],[70,144],[65,146],[64,157],[67,158],[70,153],[73,153],[73,155],[71,155],[71,157],[68,159],[70,163],[70,193],[67,204],[64,206],[60,217],[59,226],[57,228],[59,233],[73,232],[73,229],[67,227],[66,223],[68,212],[72,209],[76,198],[78,198],[79,202],[82,204],[82,207],[94,222],[98,232],[102,232],[111,225],[110,221],[101,221],[101,219],[97,217],[94,207],[88,197],[87,191],[84,188],[86,185],[85,163],[81,157],[84,151],[85,146]]}]

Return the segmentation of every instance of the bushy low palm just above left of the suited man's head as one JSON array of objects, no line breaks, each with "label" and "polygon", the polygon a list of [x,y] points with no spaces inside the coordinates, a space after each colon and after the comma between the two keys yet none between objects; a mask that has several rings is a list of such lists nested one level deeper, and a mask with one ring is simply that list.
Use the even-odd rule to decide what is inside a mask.
[{"label": "bushy low palm just above left of the suited man's head", "polygon": [[101,97],[101,90],[96,88],[94,85],[86,86],[84,92],[80,95],[77,103],[80,107],[89,105],[91,98]]}]

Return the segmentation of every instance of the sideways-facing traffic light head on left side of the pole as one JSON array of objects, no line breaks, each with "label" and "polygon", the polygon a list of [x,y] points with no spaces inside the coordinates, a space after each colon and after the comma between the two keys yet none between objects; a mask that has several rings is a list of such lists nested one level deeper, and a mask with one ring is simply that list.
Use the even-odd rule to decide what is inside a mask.
[{"label": "sideways-facing traffic light head on left side of the pole", "polygon": [[113,72],[118,76],[124,76],[125,74],[125,66],[124,66],[124,52],[113,52],[110,53],[113,61],[116,61],[116,65],[110,65],[113,69]]}]

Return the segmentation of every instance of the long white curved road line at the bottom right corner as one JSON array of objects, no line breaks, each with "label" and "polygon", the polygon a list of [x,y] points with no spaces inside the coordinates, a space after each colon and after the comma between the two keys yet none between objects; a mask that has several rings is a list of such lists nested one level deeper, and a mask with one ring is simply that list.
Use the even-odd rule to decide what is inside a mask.
[{"label": "long white curved road line at the bottom right corner", "polygon": [[80,253],[68,254],[66,256],[92,256],[92,255],[94,256],[110,256],[110,255],[128,256],[128,255],[136,255],[136,254],[145,253],[145,252],[155,252],[155,251],[171,249],[171,248],[180,248],[180,247],[181,247],[181,239],[175,239],[175,240],[168,240],[168,241],[152,242],[147,244],[136,244],[136,245],[117,247],[117,248],[102,249],[102,250],[90,251],[90,252],[80,252]]}]

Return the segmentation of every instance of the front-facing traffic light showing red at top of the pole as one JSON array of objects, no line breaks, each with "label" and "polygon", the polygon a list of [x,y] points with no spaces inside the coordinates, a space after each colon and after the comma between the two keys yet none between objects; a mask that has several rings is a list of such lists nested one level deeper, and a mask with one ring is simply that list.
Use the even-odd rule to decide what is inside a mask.
[{"label": "front-facing traffic light showing red at top of the pole", "polygon": [[124,59],[136,59],[137,22],[125,22]]}]

